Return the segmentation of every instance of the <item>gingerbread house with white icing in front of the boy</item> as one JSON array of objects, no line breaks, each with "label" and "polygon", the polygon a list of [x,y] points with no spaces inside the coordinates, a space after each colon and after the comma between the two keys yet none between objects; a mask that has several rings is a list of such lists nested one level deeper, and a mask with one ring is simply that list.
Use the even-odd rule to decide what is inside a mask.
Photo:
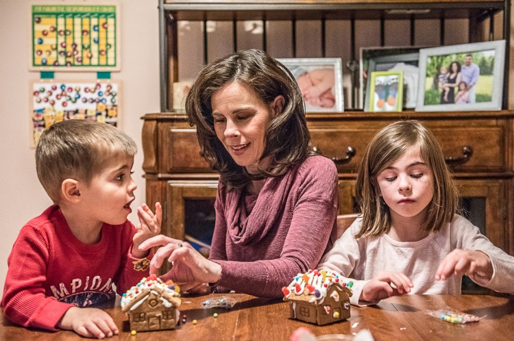
[{"label": "gingerbread house with white icing in front of the boy", "polygon": [[175,329],[180,319],[179,292],[172,281],[163,283],[156,275],[143,277],[121,296],[121,310],[129,317],[130,329]]}]

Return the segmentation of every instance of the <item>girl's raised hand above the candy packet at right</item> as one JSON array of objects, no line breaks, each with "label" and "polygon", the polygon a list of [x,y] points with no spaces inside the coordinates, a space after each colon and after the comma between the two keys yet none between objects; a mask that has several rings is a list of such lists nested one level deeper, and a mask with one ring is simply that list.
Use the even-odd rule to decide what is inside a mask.
[{"label": "girl's raised hand above the candy packet at right", "polygon": [[487,283],[493,277],[493,264],[482,251],[455,249],[439,264],[435,279],[444,281],[453,275],[467,275],[478,284]]}]

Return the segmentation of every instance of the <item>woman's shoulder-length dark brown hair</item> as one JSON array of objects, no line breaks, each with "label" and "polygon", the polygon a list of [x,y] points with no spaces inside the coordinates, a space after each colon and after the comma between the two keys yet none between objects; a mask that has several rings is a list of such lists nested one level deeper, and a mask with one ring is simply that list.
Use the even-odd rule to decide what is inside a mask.
[{"label": "woman's shoulder-length dark brown hair", "polygon": [[[269,156],[271,162],[257,175],[249,175],[238,166],[215,133],[211,97],[232,81],[251,88],[263,103],[269,104],[280,95],[285,100],[282,112],[272,118],[265,134],[261,160]],[[186,115],[188,122],[196,125],[204,157],[230,189],[242,188],[251,179],[283,175],[312,153],[302,92],[291,72],[264,51],[238,51],[205,66],[187,94]]]}]

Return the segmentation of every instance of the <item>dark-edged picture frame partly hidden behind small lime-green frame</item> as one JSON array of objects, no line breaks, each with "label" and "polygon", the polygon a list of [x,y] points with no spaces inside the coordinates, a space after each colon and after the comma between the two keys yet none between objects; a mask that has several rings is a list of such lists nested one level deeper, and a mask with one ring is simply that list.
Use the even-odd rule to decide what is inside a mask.
[{"label": "dark-edged picture frame partly hidden behind small lime-green frame", "polygon": [[403,109],[414,109],[422,47],[363,47],[360,49],[360,108],[369,112],[369,75],[374,71],[404,71]]}]

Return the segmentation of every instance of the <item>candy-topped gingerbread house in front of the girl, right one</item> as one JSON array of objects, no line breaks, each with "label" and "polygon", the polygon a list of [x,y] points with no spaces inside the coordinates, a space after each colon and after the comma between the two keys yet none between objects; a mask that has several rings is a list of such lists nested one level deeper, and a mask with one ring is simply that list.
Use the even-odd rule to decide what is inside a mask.
[{"label": "candy-topped gingerbread house in front of the girl, right one", "polygon": [[350,318],[353,284],[331,270],[308,270],[282,292],[284,301],[291,302],[291,318],[328,325]]}]

